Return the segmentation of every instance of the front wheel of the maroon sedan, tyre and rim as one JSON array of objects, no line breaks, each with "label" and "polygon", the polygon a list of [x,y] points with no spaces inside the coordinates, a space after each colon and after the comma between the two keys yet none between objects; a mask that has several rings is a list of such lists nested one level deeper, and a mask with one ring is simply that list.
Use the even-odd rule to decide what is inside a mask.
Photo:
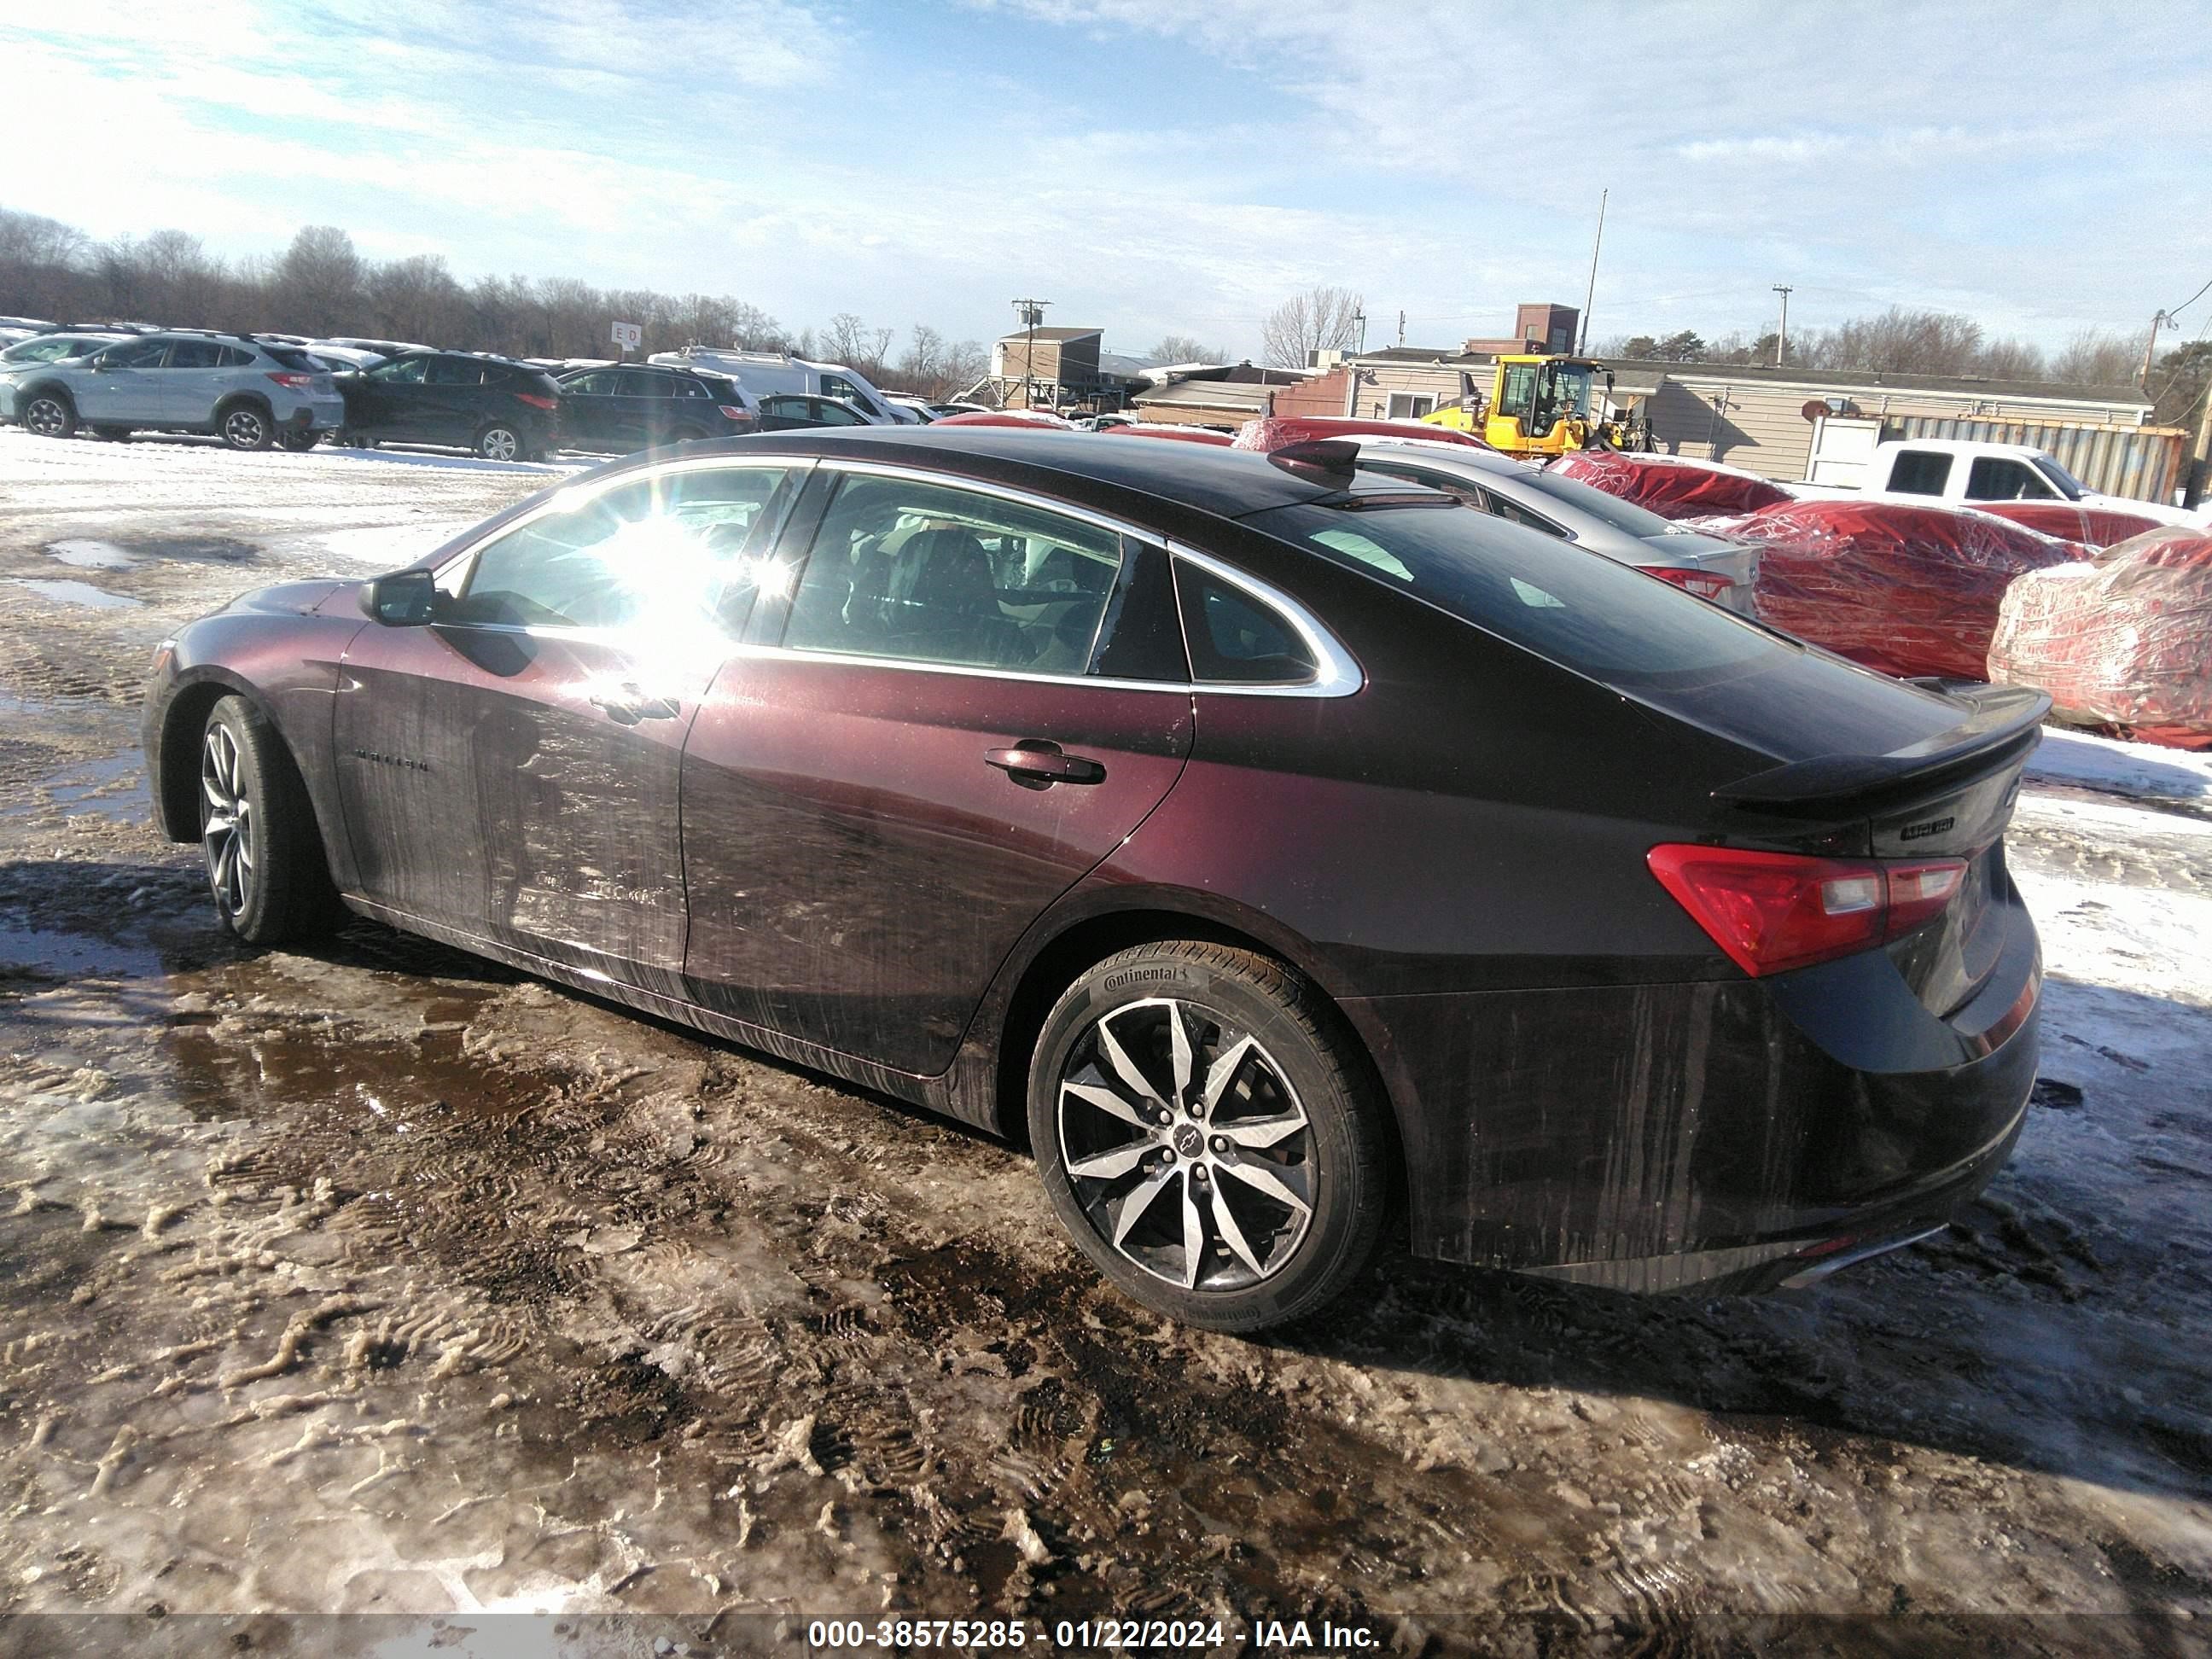
[{"label": "front wheel of the maroon sedan, tyre and rim", "polygon": [[215,914],[250,945],[316,933],[338,914],[307,785],[243,697],[223,697],[199,739],[199,847]]}]

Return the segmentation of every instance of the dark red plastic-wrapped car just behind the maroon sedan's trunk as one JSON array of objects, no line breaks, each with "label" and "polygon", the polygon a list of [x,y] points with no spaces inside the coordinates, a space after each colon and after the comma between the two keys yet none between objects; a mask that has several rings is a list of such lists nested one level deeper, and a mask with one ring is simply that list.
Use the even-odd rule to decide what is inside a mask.
[{"label": "dark red plastic-wrapped car just behind the maroon sedan's trunk", "polygon": [[1759,542],[1759,615],[1887,675],[1984,679],[2013,577],[2070,542],[1986,513],[1900,502],[1790,502],[1730,520]]}]

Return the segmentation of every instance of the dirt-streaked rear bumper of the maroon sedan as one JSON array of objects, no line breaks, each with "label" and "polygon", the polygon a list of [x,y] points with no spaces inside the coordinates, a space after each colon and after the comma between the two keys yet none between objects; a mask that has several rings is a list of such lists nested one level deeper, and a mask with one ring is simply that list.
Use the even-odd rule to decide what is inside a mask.
[{"label": "dirt-streaked rear bumper of the maroon sedan", "polygon": [[1882,951],[1774,980],[1347,1004],[1398,1104],[1413,1250],[1619,1290],[1770,1290],[1942,1225],[2004,1168],[2042,962],[1966,1006]]}]

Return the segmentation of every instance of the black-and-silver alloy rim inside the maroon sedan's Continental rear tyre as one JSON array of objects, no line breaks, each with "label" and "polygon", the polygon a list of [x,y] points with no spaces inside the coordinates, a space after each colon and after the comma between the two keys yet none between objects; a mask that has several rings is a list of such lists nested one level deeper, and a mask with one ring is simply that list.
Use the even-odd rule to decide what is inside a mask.
[{"label": "black-and-silver alloy rim inside the maroon sedan's Continental rear tyre", "polygon": [[1243,1290],[1298,1254],[1312,1124],[1274,1055],[1219,1013],[1146,998],[1095,1020],[1060,1073],[1057,1121],[1084,1217],[1155,1279]]}]

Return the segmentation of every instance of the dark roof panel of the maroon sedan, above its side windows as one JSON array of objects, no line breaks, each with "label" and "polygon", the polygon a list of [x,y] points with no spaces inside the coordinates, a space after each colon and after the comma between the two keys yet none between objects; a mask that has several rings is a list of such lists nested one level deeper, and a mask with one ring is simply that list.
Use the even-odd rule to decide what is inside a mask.
[{"label": "dark roof panel of the maroon sedan, above its side windows", "polygon": [[[1097,484],[1102,493],[1128,489],[1221,518],[1243,518],[1272,507],[1296,507],[1298,502],[1338,495],[1345,489],[1343,480],[1301,476],[1252,449],[1115,442],[1095,431],[1057,431],[1051,427],[816,427],[752,438],[721,438],[686,447],[686,453],[695,456],[745,456],[763,451],[891,460],[989,482],[1031,482],[1037,487],[1051,487],[1057,480],[1088,482]],[[1018,473],[1031,473],[1031,478],[1024,480]],[[1354,484],[1354,489],[1358,487]],[[1371,473],[1365,489],[1374,493],[1407,493],[1409,487],[1400,480],[1385,480]],[[1073,493],[1079,495],[1084,491],[1077,489]]]}]

